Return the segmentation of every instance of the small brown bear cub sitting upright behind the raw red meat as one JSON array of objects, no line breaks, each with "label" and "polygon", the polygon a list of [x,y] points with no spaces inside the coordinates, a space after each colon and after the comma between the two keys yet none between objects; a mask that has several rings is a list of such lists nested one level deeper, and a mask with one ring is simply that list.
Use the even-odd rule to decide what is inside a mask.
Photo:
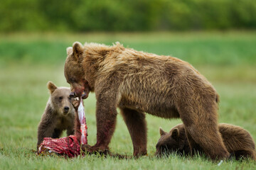
[{"label": "small brown bear cub sitting upright behind the raw red meat", "polygon": [[50,98],[38,125],[37,148],[43,142],[43,137],[60,137],[63,130],[67,135],[74,134],[75,109],[71,103],[70,88],[57,87],[51,81],[47,84]]}]

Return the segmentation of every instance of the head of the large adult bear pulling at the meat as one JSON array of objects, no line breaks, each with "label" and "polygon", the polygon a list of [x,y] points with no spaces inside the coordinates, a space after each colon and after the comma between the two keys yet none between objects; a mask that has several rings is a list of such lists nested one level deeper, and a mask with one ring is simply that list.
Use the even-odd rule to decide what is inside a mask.
[{"label": "head of the large adult bear pulling at the meat", "polygon": [[82,96],[82,98],[85,99],[89,94],[89,90],[83,69],[79,63],[82,52],[83,47],[79,42],[75,42],[73,48],[67,48],[68,57],[65,60],[64,74],[68,84],[70,84],[70,97],[75,98]]}]

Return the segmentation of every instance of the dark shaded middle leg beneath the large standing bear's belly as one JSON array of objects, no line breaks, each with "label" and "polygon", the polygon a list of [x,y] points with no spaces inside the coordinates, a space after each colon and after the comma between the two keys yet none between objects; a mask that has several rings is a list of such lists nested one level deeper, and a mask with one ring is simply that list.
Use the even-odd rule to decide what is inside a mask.
[{"label": "dark shaded middle leg beneath the large standing bear's belly", "polygon": [[121,108],[124,122],[132,137],[134,156],[146,154],[146,121],[145,114],[129,108]]}]

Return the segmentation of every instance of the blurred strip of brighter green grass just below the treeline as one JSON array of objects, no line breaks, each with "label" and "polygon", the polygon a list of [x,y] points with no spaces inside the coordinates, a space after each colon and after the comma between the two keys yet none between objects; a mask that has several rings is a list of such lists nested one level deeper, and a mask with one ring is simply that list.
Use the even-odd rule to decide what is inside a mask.
[{"label": "blurred strip of brighter green grass just below the treeline", "polygon": [[119,41],[125,47],[159,55],[173,55],[191,64],[240,65],[256,63],[256,32],[228,33],[111,33],[111,34],[16,34],[0,35],[1,65],[15,60],[21,63],[55,63],[65,59],[65,49],[75,41],[111,45]]}]

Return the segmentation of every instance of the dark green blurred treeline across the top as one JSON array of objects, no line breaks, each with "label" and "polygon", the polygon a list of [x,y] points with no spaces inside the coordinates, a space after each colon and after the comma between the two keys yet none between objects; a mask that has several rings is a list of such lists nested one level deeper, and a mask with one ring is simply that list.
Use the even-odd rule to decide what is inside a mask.
[{"label": "dark green blurred treeline across the top", "polygon": [[0,31],[256,28],[255,0],[7,0]]}]

